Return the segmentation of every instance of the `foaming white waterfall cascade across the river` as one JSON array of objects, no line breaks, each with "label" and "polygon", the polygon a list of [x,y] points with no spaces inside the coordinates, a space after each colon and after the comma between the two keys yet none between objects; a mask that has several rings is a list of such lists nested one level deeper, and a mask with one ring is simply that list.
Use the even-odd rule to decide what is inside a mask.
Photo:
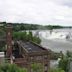
[{"label": "foaming white waterfall cascade across the river", "polygon": [[50,34],[50,31],[40,31],[39,36],[44,38],[44,39],[66,39],[66,36],[70,36],[70,39],[72,38],[72,33],[71,32],[58,32],[58,31],[53,31]]}]

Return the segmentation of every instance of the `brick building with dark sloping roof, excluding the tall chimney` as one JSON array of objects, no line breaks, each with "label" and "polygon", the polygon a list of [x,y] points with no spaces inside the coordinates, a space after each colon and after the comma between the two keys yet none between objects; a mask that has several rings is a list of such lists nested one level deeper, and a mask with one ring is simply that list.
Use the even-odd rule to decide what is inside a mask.
[{"label": "brick building with dark sloping roof, excluding the tall chimney", "polygon": [[34,63],[43,65],[43,72],[49,70],[50,50],[34,42],[16,41],[12,55],[13,63],[28,68],[29,72],[31,72],[31,64]]}]

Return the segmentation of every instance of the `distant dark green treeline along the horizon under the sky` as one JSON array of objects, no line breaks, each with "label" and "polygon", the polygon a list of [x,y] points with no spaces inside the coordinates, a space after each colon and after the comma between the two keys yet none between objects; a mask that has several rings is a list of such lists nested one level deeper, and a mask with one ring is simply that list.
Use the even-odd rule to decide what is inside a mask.
[{"label": "distant dark green treeline along the horizon under the sky", "polygon": [[59,25],[38,25],[38,24],[28,24],[28,23],[6,23],[0,22],[0,24],[12,24],[14,31],[22,31],[22,30],[52,30],[52,29],[60,29],[60,28],[72,28],[71,26],[59,26]]}]

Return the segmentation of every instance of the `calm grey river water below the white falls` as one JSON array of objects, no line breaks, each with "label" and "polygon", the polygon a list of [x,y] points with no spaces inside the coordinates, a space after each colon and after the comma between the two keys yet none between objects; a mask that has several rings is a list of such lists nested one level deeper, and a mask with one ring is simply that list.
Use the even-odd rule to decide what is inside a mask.
[{"label": "calm grey river water below the white falls", "polygon": [[72,51],[72,42],[66,41],[66,40],[48,40],[48,39],[42,39],[41,45],[47,49],[51,49],[55,52],[62,51],[63,53],[66,53],[67,50]]}]

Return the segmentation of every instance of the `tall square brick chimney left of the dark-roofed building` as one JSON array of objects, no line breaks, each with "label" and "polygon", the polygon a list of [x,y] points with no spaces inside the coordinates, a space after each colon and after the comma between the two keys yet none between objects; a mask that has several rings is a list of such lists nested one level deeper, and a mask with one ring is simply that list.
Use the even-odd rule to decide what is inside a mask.
[{"label": "tall square brick chimney left of the dark-roofed building", "polygon": [[12,25],[11,24],[7,24],[6,26],[6,43],[7,43],[6,56],[10,58],[12,56]]}]

